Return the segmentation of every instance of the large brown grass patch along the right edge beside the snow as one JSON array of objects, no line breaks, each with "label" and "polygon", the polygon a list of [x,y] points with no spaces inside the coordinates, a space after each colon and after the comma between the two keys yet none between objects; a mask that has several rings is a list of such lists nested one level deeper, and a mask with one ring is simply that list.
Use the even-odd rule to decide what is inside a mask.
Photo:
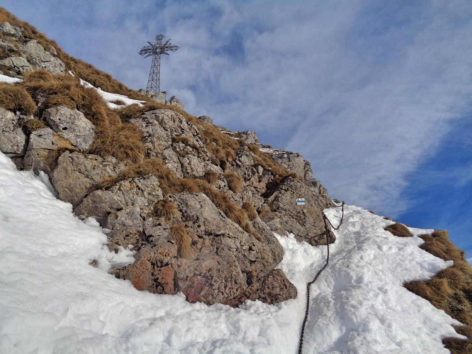
[{"label": "large brown grass patch along the right edge beside the snow", "polygon": [[404,286],[462,322],[465,326],[454,328],[468,339],[449,337],[442,342],[452,354],[472,353],[472,268],[464,259],[464,251],[449,241],[447,231],[436,230],[420,237],[425,241],[420,246],[423,250],[444,260],[454,260],[454,265],[429,280],[412,281]]}]

